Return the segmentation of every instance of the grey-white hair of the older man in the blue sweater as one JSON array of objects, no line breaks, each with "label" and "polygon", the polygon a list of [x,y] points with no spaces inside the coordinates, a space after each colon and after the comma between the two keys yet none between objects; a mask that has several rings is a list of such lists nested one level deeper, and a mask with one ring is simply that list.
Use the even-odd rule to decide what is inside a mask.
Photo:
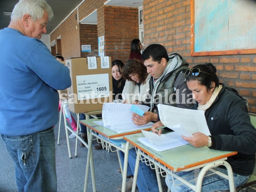
[{"label": "grey-white hair of the older man in the blue sweater", "polygon": [[11,21],[17,21],[24,14],[29,14],[33,21],[43,17],[44,11],[48,14],[48,20],[53,18],[52,8],[45,0],[19,0],[14,6],[11,15]]}]

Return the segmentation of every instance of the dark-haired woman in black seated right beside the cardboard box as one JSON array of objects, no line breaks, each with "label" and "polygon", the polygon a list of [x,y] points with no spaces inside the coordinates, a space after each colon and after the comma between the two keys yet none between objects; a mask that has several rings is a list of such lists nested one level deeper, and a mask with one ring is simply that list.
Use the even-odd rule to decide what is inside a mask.
[{"label": "dark-haired woman in black seated right beside the cardboard box", "polygon": [[120,60],[112,61],[112,83],[113,83],[113,100],[122,100],[122,91],[124,89],[125,80],[122,75],[124,63]]}]

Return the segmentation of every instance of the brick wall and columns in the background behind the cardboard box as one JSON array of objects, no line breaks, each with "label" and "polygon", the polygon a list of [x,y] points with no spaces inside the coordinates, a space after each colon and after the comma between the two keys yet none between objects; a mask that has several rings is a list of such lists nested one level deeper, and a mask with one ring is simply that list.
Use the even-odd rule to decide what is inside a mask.
[{"label": "brick wall and columns in the background behind the cardboard box", "polygon": [[[104,6],[104,0],[89,0],[78,8],[78,19],[82,20],[95,9],[98,17],[97,26],[77,24],[77,20],[74,20],[77,12],[74,11],[52,32],[51,42],[61,36],[64,58],[98,56],[95,52],[98,49],[98,37],[104,36],[105,55],[110,56],[112,60],[120,59],[125,63],[129,58],[132,40],[138,38],[138,8]],[[94,46],[94,34],[97,34],[97,47]],[[92,52],[81,52],[81,44],[91,44]]]}]

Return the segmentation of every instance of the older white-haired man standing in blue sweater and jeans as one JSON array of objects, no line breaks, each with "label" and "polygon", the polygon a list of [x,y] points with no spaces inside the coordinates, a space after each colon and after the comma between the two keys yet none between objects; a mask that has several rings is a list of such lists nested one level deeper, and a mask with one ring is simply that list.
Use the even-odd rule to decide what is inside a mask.
[{"label": "older white-haired man standing in blue sweater and jeans", "polygon": [[57,90],[71,86],[71,79],[40,41],[52,17],[45,0],[20,0],[9,26],[0,30],[0,133],[15,164],[19,192],[57,191]]}]

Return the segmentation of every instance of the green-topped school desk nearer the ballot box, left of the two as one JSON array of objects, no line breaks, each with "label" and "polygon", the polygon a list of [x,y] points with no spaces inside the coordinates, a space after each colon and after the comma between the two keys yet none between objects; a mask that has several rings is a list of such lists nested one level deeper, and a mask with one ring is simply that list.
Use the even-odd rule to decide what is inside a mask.
[{"label": "green-topped school desk nearer the ballot box, left of the two", "polygon": [[[98,136],[97,134],[100,134],[99,139],[108,143],[108,146],[115,147],[117,150],[121,150],[124,152],[124,168],[122,170],[122,175],[123,175],[123,182],[122,184],[125,186],[126,184],[126,174],[127,174],[127,164],[128,164],[128,151],[130,145],[126,145],[125,148],[122,148],[120,146],[120,143],[114,142],[114,140],[122,139],[123,136],[130,135],[130,134],[136,134],[141,132],[141,130],[133,130],[133,131],[128,131],[128,132],[123,132],[123,133],[117,133],[113,130],[110,130],[109,128],[105,128],[104,126],[100,126],[94,121],[97,121],[97,119],[86,119],[86,120],[80,120],[79,122],[87,127],[87,134],[88,134],[88,155],[87,155],[87,162],[86,162],[86,172],[85,172],[85,179],[84,179],[84,192],[86,192],[87,189],[87,184],[88,184],[88,173],[89,173],[89,166],[91,168],[91,175],[92,175],[92,186],[93,186],[93,191],[96,192],[96,182],[95,182],[95,174],[94,174],[94,165],[93,165],[93,154],[92,154],[92,135]],[[144,130],[151,130],[151,128],[146,128]],[[96,132],[97,134],[92,134],[92,131]],[[125,144],[125,142],[124,142]],[[120,163],[120,158],[118,154],[118,159]],[[125,191],[122,188],[122,191]]]}]

